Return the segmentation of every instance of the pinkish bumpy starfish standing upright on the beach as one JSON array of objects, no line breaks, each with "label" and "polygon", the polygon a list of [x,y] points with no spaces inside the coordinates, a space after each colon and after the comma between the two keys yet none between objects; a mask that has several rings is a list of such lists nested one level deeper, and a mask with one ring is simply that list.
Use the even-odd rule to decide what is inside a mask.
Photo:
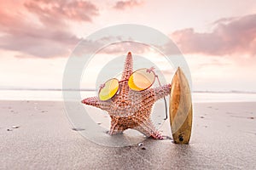
[{"label": "pinkish bumpy starfish standing upright on the beach", "polygon": [[[111,127],[108,134],[123,133],[126,129],[135,129],[147,137],[163,139],[160,132],[154,127],[151,121],[151,112],[154,103],[158,99],[170,94],[171,84],[157,88],[148,88],[143,91],[134,91],[128,86],[128,78],[132,74],[131,52],[125,59],[125,68],[119,82],[119,92],[107,101],[100,100],[97,96],[83,99],[85,105],[92,105],[96,108],[107,111],[111,118]],[[148,69],[152,71],[153,68]]]}]

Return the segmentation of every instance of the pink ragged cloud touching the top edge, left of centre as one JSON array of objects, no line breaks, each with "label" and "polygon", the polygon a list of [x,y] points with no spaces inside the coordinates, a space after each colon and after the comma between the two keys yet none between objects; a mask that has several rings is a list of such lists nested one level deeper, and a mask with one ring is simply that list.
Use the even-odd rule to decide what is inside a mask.
[{"label": "pink ragged cloud touching the top edge, left of centre", "polygon": [[98,15],[98,8],[93,3],[86,1],[67,0],[37,0],[24,4],[29,12],[38,15],[44,25],[57,25],[64,20],[92,21],[92,17]]}]

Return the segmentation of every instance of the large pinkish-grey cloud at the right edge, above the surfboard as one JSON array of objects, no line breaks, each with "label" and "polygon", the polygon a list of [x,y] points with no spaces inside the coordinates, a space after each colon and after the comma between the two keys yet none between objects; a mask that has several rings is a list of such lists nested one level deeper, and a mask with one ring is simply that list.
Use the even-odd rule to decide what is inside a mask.
[{"label": "large pinkish-grey cloud at the right edge, above the surfboard", "polygon": [[189,28],[173,32],[172,38],[187,54],[256,54],[256,14],[220,19],[213,26],[210,33]]}]

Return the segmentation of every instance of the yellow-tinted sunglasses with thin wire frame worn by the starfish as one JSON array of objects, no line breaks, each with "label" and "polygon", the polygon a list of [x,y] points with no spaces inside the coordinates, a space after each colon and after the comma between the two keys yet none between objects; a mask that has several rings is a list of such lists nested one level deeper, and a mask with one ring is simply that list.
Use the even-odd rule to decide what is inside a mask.
[{"label": "yellow-tinted sunglasses with thin wire frame worn by the starfish", "polygon": [[[128,79],[119,81],[117,78],[109,79],[107,82],[103,83],[100,86],[98,97],[102,101],[107,101],[108,99],[112,99],[115,94],[119,91],[119,83],[128,81],[128,86],[131,90],[140,92],[143,90],[147,90],[150,88],[155,81],[155,78],[158,80],[160,85],[159,77],[154,72],[154,67],[149,69],[143,68],[138,69],[131,73],[131,76]],[[165,105],[166,105],[166,98],[164,97]],[[167,119],[167,106],[166,106],[166,118]]]}]

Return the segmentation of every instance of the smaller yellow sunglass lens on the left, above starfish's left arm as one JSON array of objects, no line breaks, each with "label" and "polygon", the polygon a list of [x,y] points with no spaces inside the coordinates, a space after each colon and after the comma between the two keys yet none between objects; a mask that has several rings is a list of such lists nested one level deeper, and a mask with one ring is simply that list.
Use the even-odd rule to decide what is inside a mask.
[{"label": "smaller yellow sunglass lens on the left, above starfish's left arm", "polygon": [[111,99],[114,94],[119,90],[119,80],[118,79],[110,79],[108,82],[105,82],[103,88],[99,91],[99,99],[102,101]]}]

